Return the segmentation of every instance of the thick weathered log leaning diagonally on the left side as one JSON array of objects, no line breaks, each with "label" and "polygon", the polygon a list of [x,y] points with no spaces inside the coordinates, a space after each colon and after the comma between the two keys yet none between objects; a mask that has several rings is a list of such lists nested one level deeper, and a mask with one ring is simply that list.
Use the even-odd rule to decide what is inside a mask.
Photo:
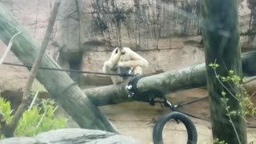
[{"label": "thick weathered log leaning diagonally on the left side", "polygon": [[[22,34],[14,39],[11,50],[22,63],[32,66],[38,55],[38,43],[15,21],[8,10],[0,4],[0,39],[2,42],[7,45],[10,38],[17,34],[18,31],[21,31]],[[61,68],[47,54],[42,58],[40,66]],[[68,114],[74,118],[74,121],[79,126],[87,129],[107,130],[117,133],[106,117],[90,102],[89,98],[75,85],[66,72],[38,70],[36,78]]]}]

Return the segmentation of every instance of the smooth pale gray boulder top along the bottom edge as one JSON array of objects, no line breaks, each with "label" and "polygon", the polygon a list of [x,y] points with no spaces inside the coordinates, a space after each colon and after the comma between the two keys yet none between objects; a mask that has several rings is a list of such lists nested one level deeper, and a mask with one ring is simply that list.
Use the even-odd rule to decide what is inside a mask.
[{"label": "smooth pale gray boulder top along the bottom edge", "polygon": [[18,137],[2,139],[4,144],[139,144],[133,138],[101,130],[60,129],[38,134],[34,138]]}]

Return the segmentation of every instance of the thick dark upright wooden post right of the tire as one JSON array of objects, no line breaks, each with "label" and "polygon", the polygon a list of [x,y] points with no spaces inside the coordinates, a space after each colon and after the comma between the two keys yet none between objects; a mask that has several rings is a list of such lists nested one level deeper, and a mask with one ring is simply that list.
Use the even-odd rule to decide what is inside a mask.
[{"label": "thick dark upright wooden post right of the tire", "polygon": [[[203,40],[206,52],[206,78],[210,95],[210,116],[213,137],[226,143],[246,144],[246,122],[244,110],[239,106],[242,90],[234,81],[218,81],[220,77],[230,76],[229,70],[242,77],[241,49],[238,28],[238,0],[202,0]],[[210,63],[216,62],[215,70]],[[226,88],[225,88],[226,87]],[[222,92],[225,92],[223,94]],[[235,98],[235,95],[241,95]],[[227,103],[221,100],[228,98]],[[226,104],[225,104],[226,103]],[[230,106],[230,108],[228,108]],[[240,112],[229,115],[229,111]],[[218,143],[218,142],[214,142]]]}]

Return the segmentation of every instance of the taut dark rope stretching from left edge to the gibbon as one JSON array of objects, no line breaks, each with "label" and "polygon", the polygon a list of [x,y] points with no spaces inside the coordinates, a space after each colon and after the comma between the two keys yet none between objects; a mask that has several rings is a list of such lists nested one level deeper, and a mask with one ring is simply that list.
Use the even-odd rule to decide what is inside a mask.
[{"label": "taut dark rope stretching from left edge to the gibbon", "polygon": [[[10,66],[21,66],[21,67],[27,67],[27,68],[32,67],[28,65],[16,64],[16,63],[10,63],[10,62],[2,62],[2,64],[10,65]],[[82,70],[63,70],[63,69],[49,68],[49,67],[43,67],[43,66],[39,66],[38,69],[66,71],[66,72],[83,73],[83,74],[99,74],[99,75],[112,75],[112,76],[119,76],[119,77],[134,77],[134,74],[109,74],[109,73],[100,73],[100,72],[82,71]]]}]

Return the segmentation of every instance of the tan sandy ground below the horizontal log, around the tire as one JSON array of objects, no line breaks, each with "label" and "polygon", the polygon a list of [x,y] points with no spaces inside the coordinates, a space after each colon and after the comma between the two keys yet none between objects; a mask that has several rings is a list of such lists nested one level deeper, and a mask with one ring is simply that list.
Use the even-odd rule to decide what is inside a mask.
[{"label": "tan sandy ground below the horizontal log, around the tire", "polygon": [[[179,102],[189,102],[194,98],[202,98],[207,95],[207,91],[203,89],[193,89],[179,91],[170,94],[168,99],[174,104]],[[100,110],[109,118],[110,122],[117,128],[117,130],[126,136],[138,139],[142,144],[153,144],[152,133],[154,122],[158,117],[170,112],[165,106],[156,104],[150,106],[146,102],[126,102],[111,106],[102,106]],[[207,99],[200,102],[195,102],[188,106],[184,106],[181,110],[187,113],[210,118]],[[210,144],[211,126],[210,122],[191,118],[198,131],[198,144]],[[70,122],[70,126],[76,126],[74,122]],[[248,142],[256,142],[256,129],[248,129]],[[186,130],[182,124],[171,125],[167,130],[163,131],[163,138],[165,143],[182,144],[186,143]]]}]

